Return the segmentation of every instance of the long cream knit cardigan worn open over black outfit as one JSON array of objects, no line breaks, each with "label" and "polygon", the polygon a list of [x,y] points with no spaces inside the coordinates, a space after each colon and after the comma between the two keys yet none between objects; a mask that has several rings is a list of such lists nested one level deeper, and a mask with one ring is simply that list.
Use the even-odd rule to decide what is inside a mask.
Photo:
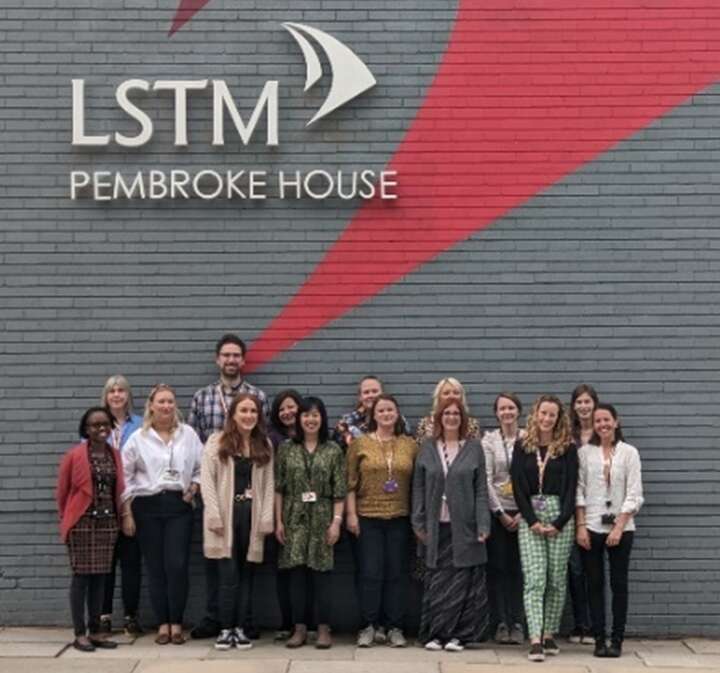
[{"label": "long cream knit cardigan worn open over black outfit", "polygon": [[[206,558],[232,558],[233,496],[235,466],[232,460],[218,456],[220,433],[210,436],[203,451],[200,486],[203,499],[203,553]],[[253,498],[250,513],[250,545],[247,560],[262,563],[265,535],[273,532],[275,481],[273,461],[262,467],[252,466]],[[223,527],[222,535],[210,527]]]}]

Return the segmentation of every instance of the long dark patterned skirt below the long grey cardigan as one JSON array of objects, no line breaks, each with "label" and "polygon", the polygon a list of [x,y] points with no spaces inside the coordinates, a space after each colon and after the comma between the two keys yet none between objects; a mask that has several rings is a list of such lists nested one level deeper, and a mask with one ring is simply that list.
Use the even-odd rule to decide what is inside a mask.
[{"label": "long dark patterned skirt below the long grey cardigan", "polygon": [[485,638],[489,620],[485,566],[453,566],[449,525],[440,525],[437,567],[425,570],[424,586],[420,642],[457,638],[461,643],[477,643]]}]

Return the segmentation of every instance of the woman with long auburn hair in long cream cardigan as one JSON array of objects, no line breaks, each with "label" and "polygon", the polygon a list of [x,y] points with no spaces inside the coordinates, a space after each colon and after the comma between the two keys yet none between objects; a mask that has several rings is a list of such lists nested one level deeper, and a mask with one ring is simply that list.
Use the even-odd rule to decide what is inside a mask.
[{"label": "woman with long auburn hair in long cream cardigan", "polygon": [[253,565],[262,563],[265,535],[273,532],[272,462],[262,403],[242,393],[230,405],[222,432],[208,439],[202,462],[203,551],[220,561],[218,650],[252,647],[240,619],[251,599]]}]

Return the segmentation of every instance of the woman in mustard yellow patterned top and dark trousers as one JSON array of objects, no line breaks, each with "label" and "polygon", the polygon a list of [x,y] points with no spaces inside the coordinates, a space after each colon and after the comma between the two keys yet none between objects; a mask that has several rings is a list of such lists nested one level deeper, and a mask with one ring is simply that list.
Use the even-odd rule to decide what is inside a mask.
[{"label": "woman in mustard yellow patterned top and dark trousers", "polygon": [[[405,647],[405,583],[410,554],[410,483],[417,444],[403,434],[403,420],[392,395],[379,395],[365,435],[347,453],[347,528],[358,537],[360,612],[358,647],[375,642],[375,629],[387,627],[391,647]],[[387,624],[380,625],[380,611]]]}]

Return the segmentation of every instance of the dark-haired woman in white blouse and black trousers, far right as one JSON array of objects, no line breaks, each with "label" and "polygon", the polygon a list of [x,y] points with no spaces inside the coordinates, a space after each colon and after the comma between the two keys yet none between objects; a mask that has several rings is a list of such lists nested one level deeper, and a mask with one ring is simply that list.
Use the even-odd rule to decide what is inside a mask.
[{"label": "dark-haired woman in white blouse and black trousers, far right", "polygon": [[[593,412],[593,436],[578,453],[576,538],[588,578],[596,657],[619,657],[628,608],[628,570],[635,515],[643,504],[640,455],[625,443],[612,404]],[[605,633],[605,554],[610,564],[613,624]]]}]

